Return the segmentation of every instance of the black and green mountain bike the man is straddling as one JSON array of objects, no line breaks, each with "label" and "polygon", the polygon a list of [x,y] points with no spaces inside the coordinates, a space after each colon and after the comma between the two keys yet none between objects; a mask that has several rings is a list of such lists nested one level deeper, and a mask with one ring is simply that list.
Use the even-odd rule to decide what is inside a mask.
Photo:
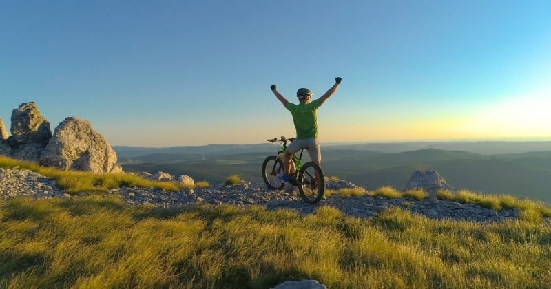
[{"label": "black and green mountain bike the man is straddling", "polygon": [[[283,153],[287,149],[287,142],[293,142],[295,139],[282,136],[279,140],[277,138],[268,140],[268,142],[278,144],[277,155],[268,156],[262,162],[262,179],[269,189],[281,190],[284,188],[285,183],[278,179],[278,175],[283,174]],[[315,162],[301,163],[303,152],[304,149],[301,149],[299,156],[296,154],[291,156],[290,184],[298,186],[300,197],[304,202],[315,204],[322,200],[325,193],[325,176],[322,168]]]}]

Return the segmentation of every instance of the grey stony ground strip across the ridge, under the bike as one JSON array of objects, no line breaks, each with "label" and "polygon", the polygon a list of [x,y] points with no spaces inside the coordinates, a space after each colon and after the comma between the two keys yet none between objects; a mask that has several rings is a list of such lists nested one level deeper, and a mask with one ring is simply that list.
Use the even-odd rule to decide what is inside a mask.
[{"label": "grey stony ground strip across the ridge, under the bike", "polygon": [[[53,180],[27,170],[0,168],[0,184],[0,197],[4,198],[17,196],[72,197],[56,186]],[[369,218],[387,208],[397,206],[436,219],[499,222],[518,217],[516,210],[494,211],[475,204],[460,204],[435,199],[417,201],[408,197],[388,199],[386,197],[331,195],[318,204],[310,205],[302,201],[296,189],[293,192],[271,191],[264,184],[249,182],[233,186],[220,184],[202,189],[184,189],[178,192],[124,187],[110,189],[107,194],[120,195],[128,204],[148,203],[160,208],[180,208],[191,204],[260,205],[266,206],[269,210],[286,208],[306,215],[315,212],[320,206],[333,206],[346,215]]]}]

